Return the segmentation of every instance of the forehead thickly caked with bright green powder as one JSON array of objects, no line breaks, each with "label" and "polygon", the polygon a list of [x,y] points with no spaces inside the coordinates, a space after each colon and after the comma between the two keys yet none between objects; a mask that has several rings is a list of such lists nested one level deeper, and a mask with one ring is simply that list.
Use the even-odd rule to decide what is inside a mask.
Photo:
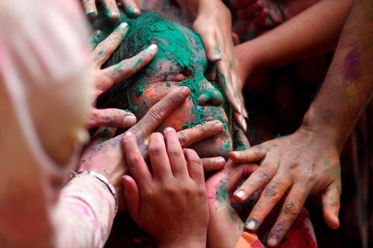
[{"label": "forehead thickly caked with bright green powder", "polygon": [[206,52],[201,37],[190,29],[169,22],[154,25],[154,38],[158,45],[156,61],[172,60],[179,67],[205,70]]}]

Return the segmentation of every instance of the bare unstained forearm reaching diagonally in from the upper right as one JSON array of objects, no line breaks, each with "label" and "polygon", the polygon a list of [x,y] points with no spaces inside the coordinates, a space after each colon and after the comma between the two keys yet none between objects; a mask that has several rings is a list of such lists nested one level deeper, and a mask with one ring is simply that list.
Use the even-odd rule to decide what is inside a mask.
[{"label": "bare unstained forearm reaching diagonally in from the upper right", "polygon": [[[251,41],[235,47],[242,79],[335,49],[352,0],[323,0]],[[249,67],[249,68],[248,68]]]}]

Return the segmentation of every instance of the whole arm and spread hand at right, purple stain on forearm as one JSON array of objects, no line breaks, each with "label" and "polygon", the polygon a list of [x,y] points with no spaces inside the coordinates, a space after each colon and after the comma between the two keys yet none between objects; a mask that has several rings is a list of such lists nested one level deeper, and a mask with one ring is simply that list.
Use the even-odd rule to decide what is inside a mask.
[{"label": "whole arm and spread hand at right, purple stain on forearm", "polygon": [[260,168],[234,193],[236,200],[245,201],[267,184],[245,228],[256,230],[289,190],[268,235],[271,246],[282,240],[310,194],[321,194],[325,222],[339,227],[339,155],[373,94],[372,10],[370,0],[354,2],[325,82],[301,127],[290,136],[231,153],[235,162],[260,160]]}]

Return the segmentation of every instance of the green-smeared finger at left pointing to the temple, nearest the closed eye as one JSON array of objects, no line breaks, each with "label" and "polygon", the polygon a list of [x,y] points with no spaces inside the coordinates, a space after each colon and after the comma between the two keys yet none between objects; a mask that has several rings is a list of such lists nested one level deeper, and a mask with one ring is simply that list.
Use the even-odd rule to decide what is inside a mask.
[{"label": "green-smeared finger at left pointing to the temple, nearest the closed eye", "polygon": [[97,88],[102,91],[101,93],[103,93],[115,83],[135,74],[138,70],[147,65],[154,58],[157,52],[157,45],[152,44],[136,56],[101,70],[101,73],[104,73],[107,76],[110,83],[101,82]]}]

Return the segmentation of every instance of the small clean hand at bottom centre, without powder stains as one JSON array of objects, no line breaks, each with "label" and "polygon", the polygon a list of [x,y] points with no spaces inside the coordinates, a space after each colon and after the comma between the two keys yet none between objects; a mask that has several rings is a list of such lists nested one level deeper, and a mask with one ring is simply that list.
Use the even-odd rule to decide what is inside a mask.
[{"label": "small clean hand at bottom centre, without powder stains", "polygon": [[149,140],[150,174],[134,134],[123,135],[132,177],[122,177],[129,214],[159,247],[206,247],[209,209],[203,168],[197,153],[181,148],[167,127]]}]

